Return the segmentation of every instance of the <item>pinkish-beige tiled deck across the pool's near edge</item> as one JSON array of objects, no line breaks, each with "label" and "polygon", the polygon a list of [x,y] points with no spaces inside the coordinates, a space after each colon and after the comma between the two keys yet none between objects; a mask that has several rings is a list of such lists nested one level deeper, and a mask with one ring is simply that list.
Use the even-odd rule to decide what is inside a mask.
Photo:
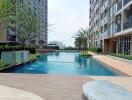
[{"label": "pinkish-beige tiled deck across the pool's near edge", "polygon": [[132,92],[132,77],[0,74],[0,85],[31,92],[44,100],[82,100],[82,85],[94,80],[108,80]]}]

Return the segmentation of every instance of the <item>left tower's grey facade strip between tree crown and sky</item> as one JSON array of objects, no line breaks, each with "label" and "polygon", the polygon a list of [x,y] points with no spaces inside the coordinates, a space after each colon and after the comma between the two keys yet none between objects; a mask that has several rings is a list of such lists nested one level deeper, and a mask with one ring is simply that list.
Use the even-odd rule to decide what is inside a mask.
[{"label": "left tower's grey facade strip between tree crown and sky", "polygon": [[35,38],[37,45],[47,45],[47,28],[48,28],[48,1],[47,0],[24,0],[31,5],[32,11],[37,16],[37,37]]}]

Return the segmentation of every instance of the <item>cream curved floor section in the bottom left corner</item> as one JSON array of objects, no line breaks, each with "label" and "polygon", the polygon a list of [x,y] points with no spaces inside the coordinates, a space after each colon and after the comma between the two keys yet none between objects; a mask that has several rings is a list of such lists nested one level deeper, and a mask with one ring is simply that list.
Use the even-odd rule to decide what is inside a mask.
[{"label": "cream curved floor section in the bottom left corner", "polygon": [[36,94],[0,85],[0,100],[44,100]]}]

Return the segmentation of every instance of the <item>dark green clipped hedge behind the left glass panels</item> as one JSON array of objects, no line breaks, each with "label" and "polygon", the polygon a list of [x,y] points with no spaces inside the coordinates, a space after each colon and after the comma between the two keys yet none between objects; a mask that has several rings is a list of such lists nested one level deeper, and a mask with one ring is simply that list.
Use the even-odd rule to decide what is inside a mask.
[{"label": "dark green clipped hedge behind the left glass panels", "polygon": [[36,50],[32,46],[0,46],[0,52],[2,51],[19,51],[19,50],[29,50],[30,53],[36,53]]}]

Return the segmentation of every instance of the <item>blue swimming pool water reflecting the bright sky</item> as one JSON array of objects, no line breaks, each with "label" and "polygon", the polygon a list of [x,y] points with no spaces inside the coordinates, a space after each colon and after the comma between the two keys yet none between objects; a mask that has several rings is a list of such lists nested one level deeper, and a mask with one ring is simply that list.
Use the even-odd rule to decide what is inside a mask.
[{"label": "blue swimming pool water reflecting the bright sky", "polygon": [[80,57],[78,52],[54,52],[40,59],[8,70],[12,73],[116,76],[103,64],[91,58]]}]

